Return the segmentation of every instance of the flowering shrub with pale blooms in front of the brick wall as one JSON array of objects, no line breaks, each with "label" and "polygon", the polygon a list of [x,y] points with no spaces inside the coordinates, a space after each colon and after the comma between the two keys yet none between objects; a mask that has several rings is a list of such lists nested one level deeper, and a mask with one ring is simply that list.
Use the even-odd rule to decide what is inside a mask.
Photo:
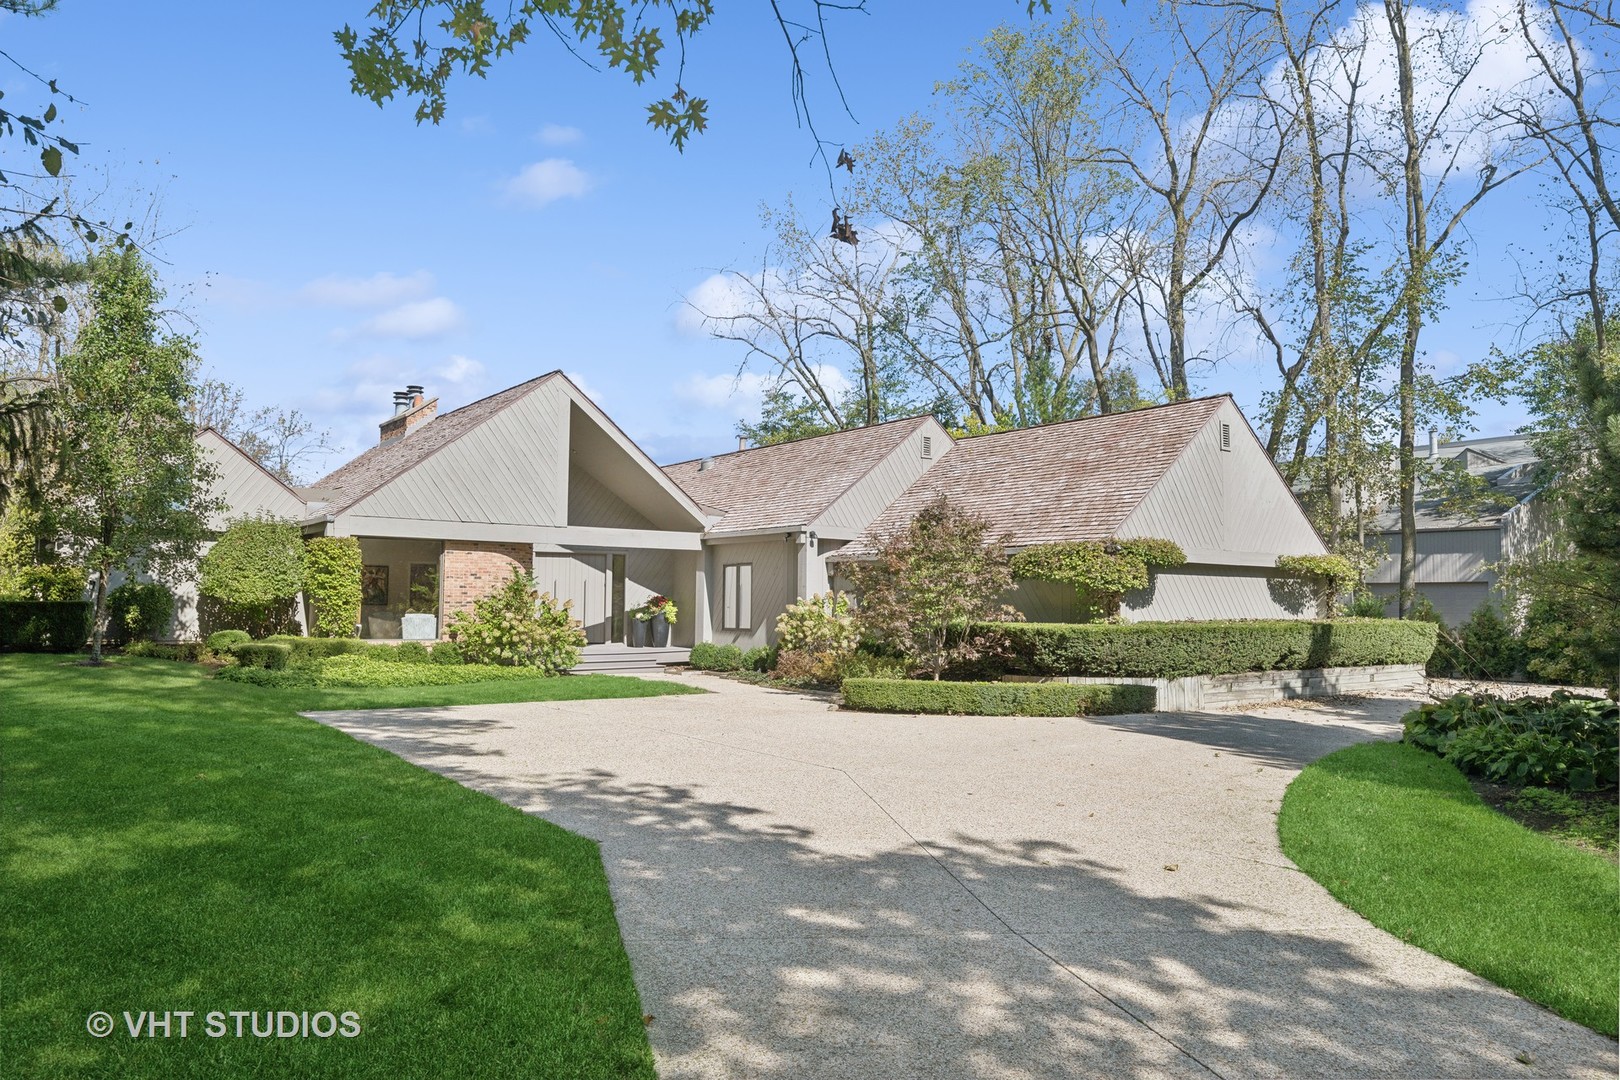
[{"label": "flowering shrub with pale blooms in front of the brick wall", "polygon": [[580,662],[585,630],[551,593],[535,588],[535,575],[514,570],[494,594],[473,601],[473,610],[450,615],[450,640],[468,664],[538,667],[561,675]]}]

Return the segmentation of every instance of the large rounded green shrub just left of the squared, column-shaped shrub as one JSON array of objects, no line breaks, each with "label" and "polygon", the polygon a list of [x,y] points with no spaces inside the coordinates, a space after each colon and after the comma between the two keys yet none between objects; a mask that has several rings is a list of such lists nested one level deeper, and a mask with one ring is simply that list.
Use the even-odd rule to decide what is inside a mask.
[{"label": "large rounded green shrub just left of the squared, column-shaped shrub", "polygon": [[[305,586],[305,544],[296,521],[269,515],[235,518],[198,565],[198,593],[217,617],[264,636],[295,623]],[[212,619],[211,612],[211,619]]]}]

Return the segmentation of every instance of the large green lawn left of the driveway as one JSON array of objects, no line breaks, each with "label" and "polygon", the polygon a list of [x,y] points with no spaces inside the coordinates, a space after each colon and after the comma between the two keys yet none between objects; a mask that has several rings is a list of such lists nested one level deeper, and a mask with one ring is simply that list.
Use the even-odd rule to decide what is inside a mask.
[{"label": "large green lawn left of the driveway", "polygon": [[[596,845],[295,709],[682,691],[266,690],[0,657],[5,1075],[651,1077]],[[178,1018],[125,1031],[125,1010],[186,1009],[185,1040]],[[209,1038],[207,1010],[353,1010],[361,1033]]]}]

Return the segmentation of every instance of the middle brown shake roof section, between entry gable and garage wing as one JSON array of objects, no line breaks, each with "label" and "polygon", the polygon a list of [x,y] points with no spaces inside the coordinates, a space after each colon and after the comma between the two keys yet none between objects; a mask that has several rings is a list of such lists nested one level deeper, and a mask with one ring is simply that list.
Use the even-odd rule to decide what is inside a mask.
[{"label": "middle brown shake roof section, between entry gable and garage wing", "polygon": [[927,416],[910,416],[735,450],[706,458],[708,468],[700,468],[705,458],[666,465],[664,474],[693,502],[726,515],[710,533],[792,528],[821,517],[925,423]]}]

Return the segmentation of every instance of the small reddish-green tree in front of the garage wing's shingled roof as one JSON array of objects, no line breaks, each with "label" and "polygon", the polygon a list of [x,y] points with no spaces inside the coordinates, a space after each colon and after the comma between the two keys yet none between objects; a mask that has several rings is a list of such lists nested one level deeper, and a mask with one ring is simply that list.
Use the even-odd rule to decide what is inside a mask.
[{"label": "small reddish-green tree in front of the garage wing's shingled roof", "polygon": [[970,625],[1013,615],[1001,604],[1013,588],[1006,541],[990,534],[987,518],[944,497],[930,502],[872,562],[850,565],[862,633],[935,680],[951,664],[977,659],[988,643]]}]

